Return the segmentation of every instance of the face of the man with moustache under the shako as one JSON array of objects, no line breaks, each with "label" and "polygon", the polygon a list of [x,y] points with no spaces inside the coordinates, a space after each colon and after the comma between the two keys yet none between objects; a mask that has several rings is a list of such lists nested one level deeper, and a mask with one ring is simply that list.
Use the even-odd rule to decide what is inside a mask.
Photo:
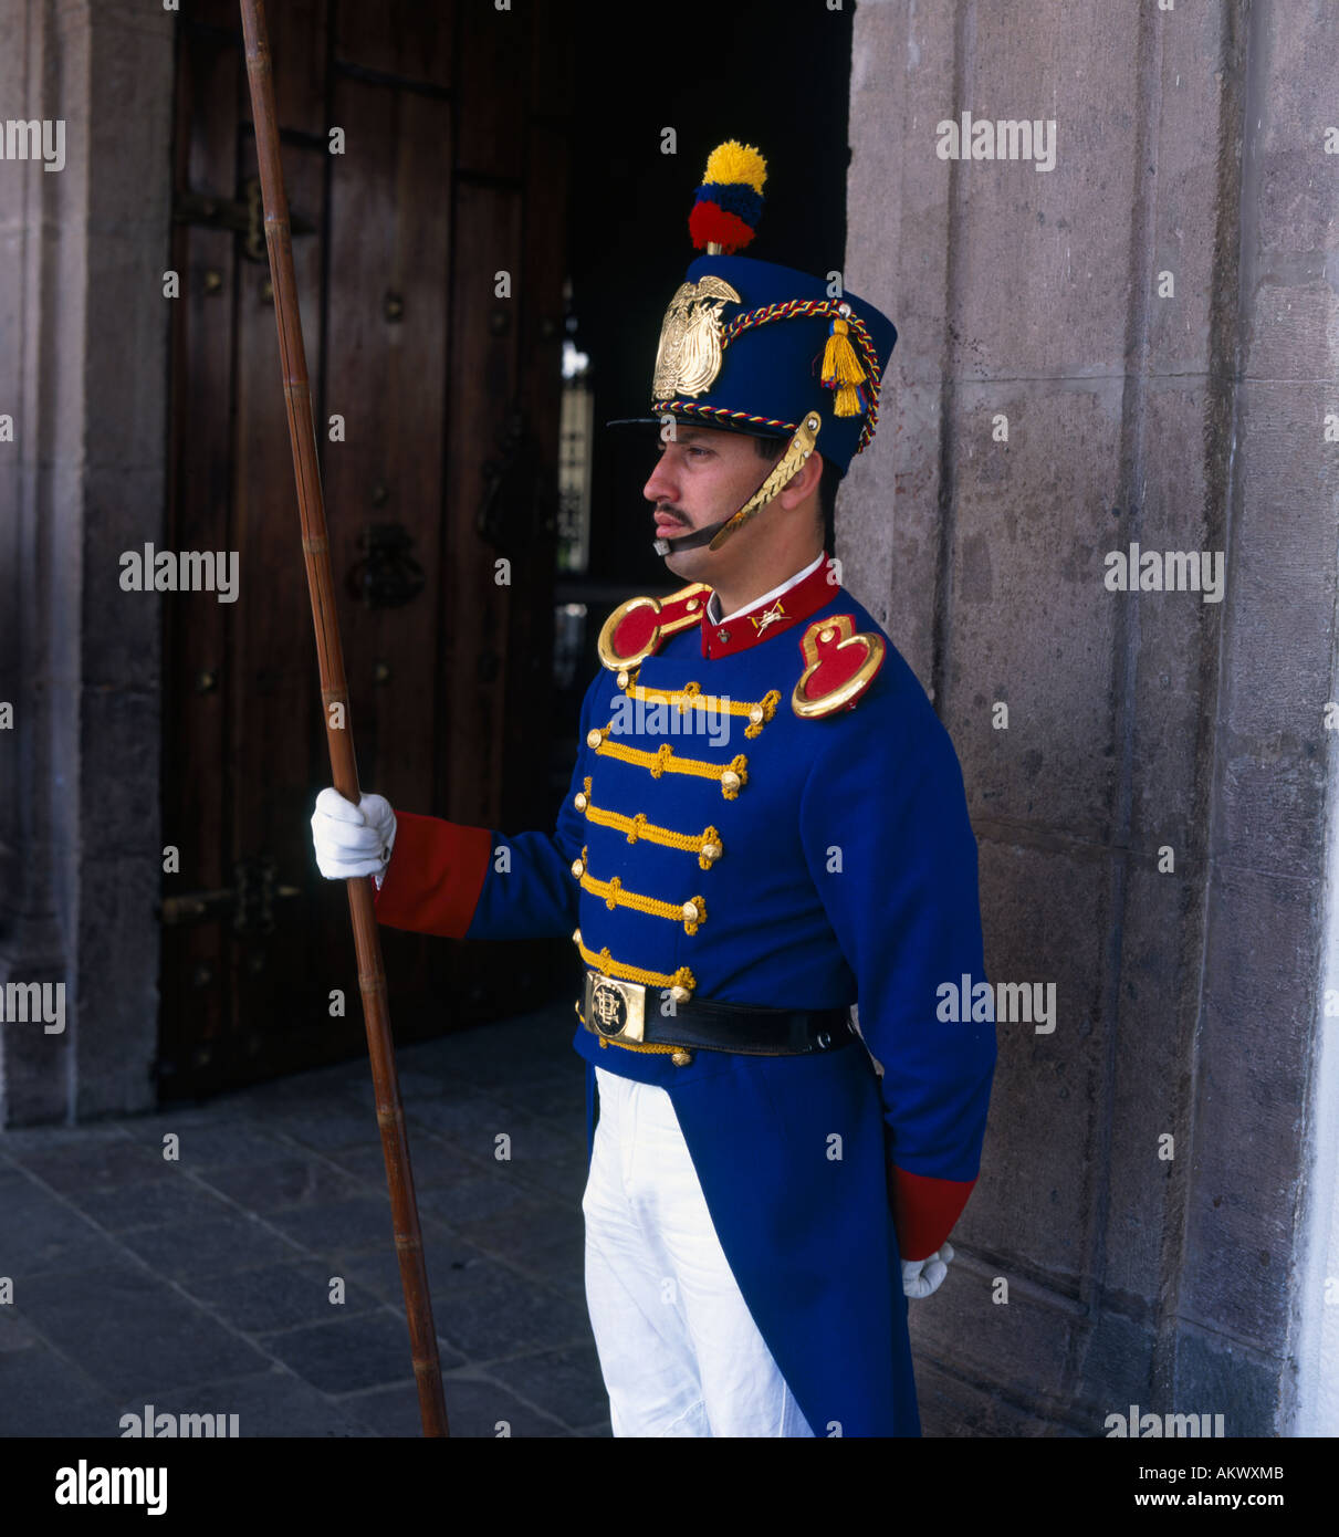
[{"label": "face of the man with moustache under the shako", "polygon": [[[752,438],[679,424],[673,441],[660,444],[660,461],[643,487],[643,496],[655,507],[653,536],[675,539],[729,518],[770,473],[772,464],[758,456]],[[747,566],[755,533],[756,523],[746,523],[719,550],[699,544],[667,555],[666,566],[686,581],[713,586],[729,581],[736,569]]]}]

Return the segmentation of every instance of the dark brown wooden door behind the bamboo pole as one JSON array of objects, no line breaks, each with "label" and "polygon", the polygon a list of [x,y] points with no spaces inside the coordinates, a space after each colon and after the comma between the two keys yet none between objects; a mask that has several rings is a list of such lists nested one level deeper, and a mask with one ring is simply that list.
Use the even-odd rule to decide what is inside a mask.
[{"label": "dark brown wooden door behind the bamboo pole", "polygon": [[[269,25],[363,787],[461,822],[537,825],[563,29],[412,0],[272,5]],[[232,604],[161,599],[163,825],[180,851],[163,876],[163,1099],[363,1042],[347,901],[311,851],[329,762],[237,8],[195,5],[178,26],[163,546],[235,550],[240,584]],[[561,954],[390,930],[383,948],[398,1039],[533,1007]]]}]

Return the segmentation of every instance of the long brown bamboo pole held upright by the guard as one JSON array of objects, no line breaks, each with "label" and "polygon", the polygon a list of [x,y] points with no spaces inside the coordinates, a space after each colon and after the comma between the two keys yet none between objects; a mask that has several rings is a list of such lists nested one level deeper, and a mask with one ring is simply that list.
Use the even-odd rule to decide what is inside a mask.
[{"label": "long brown bamboo pole held upright by the guard", "polygon": [[[335,584],[331,575],[326,507],[317,460],[315,407],[307,386],[307,357],[303,347],[303,323],[294,275],[287,194],[284,192],[278,154],[278,118],[274,103],[269,35],[264,25],[264,0],[240,0],[240,3],[241,32],[246,41],[246,74],[251,83],[251,106],[255,120],[255,155],[260,163],[260,188],[264,201],[264,243],[269,251],[269,275],[274,287],[274,317],[278,326],[283,392],[294,450],[307,590],[312,599],[312,622],[317,630],[326,744],[331,750],[334,785],[346,801],[357,805],[361,798],[358,764],[354,756],[354,732],[349,722],[344,652],[335,615]],[[332,705],[341,707],[338,724],[332,724]],[[381,964],[381,941],[377,933],[372,887],[366,876],[355,876],[347,885],[354,947],[358,954],[358,988],[363,994],[363,1022],[367,1028],[367,1054],[377,1091],[377,1124],[381,1128],[381,1151],[386,1156],[386,1180],[390,1187],[390,1214],[395,1223],[400,1280],[404,1286],[404,1311],[409,1317],[409,1340],[414,1353],[414,1377],[418,1383],[418,1408],[423,1414],[423,1434],[449,1436],[446,1400],[441,1391],[441,1366],[437,1357],[437,1330],[432,1325],[432,1299],[427,1294],[427,1268],[423,1260],[423,1234],[418,1225],[418,1203],[414,1199],[414,1173],[409,1165],[409,1140],[404,1133],[404,1110],[395,1073],[395,1047],[390,1041],[386,973]]]}]

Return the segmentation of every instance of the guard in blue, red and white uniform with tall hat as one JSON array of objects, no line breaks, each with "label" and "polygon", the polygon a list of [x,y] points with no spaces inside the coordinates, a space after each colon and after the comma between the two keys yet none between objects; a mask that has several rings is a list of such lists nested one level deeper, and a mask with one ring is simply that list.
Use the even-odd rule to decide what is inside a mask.
[{"label": "guard in blue, red and white uniform with tall hat", "polygon": [[985,981],[976,841],[949,733],[824,549],[896,329],[738,254],[764,174],[721,144],[692,209],[635,418],[683,586],[606,621],[555,832],[334,790],[312,828],[383,924],[572,934],[615,1436],[919,1436],[907,1297],[952,1259],[996,1054],[941,1007]]}]

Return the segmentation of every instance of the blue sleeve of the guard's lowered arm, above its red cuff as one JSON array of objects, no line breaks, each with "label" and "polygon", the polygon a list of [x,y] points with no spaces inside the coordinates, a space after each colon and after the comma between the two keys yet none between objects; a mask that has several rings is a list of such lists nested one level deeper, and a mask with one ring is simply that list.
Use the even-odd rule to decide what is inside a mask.
[{"label": "blue sleeve of the guard's lowered arm, above its red cuff", "polygon": [[804,853],[884,1070],[887,1156],[912,1174],[972,1180],[996,1045],[993,1022],[939,1017],[945,984],[985,981],[958,755],[924,695],[907,690],[813,724],[830,739],[801,799]]}]

